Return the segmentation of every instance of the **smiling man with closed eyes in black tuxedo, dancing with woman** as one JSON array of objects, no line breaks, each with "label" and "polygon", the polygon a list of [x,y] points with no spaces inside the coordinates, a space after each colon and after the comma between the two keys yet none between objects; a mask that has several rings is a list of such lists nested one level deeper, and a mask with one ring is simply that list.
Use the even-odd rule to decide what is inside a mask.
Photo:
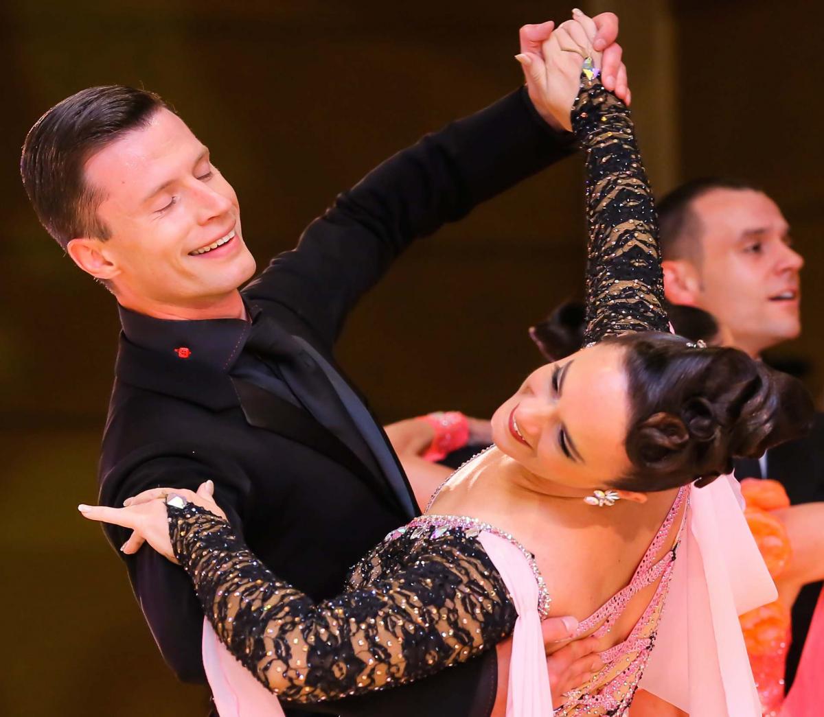
[{"label": "smiling man with closed eyes in black tuxedo, dancing with woman", "polygon": [[[596,20],[605,84],[626,97],[616,17]],[[522,52],[539,53],[550,32],[550,23],[523,28]],[[157,95],[96,87],[44,114],[26,137],[26,191],[77,266],[115,295],[123,326],[100,502],[211,479],[233,527],[275,574],[315,599],[338,594],[349,566],[419,506],[336,364],[335,341],[412,240],[573,151],[541,100],[527,85],[391,157],[242,291],[255,260],[236,195]],[[115,547],[127,538],[114,526],[107,533]],[[203,681],[203,615],[190,581],[152,550],[122,549],[166,662]],[[570,631],[557,618],[545,636]],[[495,656],[326,711],[488,715]],[[582,659],[592,663],[574,651],[556,658],[555,678],[582,671]]]}]

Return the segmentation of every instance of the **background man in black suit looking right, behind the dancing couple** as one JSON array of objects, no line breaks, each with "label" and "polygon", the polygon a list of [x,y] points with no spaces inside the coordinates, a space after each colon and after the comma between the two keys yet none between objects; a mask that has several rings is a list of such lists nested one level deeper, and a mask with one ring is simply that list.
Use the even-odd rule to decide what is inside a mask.
[{"label": "background man in black suit looking right, behind the dancing couple", "polygon": [[[772,199],[749,184],[699,179],[663,198],[658,214],[667,299],[708,311],[724,342],[750,356],[798,336],[803,259]],[[806,438],[770,449],[761,461],[739,461],[735,473],[780,481],[794,505],[824,501],[824,416]],[[821,588],[807,585],[793,606],[788,688]]]}]

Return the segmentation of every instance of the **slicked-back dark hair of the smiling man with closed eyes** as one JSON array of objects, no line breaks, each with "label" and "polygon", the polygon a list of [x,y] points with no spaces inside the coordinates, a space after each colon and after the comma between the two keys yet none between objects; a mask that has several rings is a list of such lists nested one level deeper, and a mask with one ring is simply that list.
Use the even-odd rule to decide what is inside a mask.
[{"label": "slicked-back dark hair of the smiling man with closed eyes", "polygon": [[54,105],[29,130],[20,161],[23,186],[40,223],[63,249],[79,236],[109,238],[97,216],[104,197],[87,184],[83,167],[106,145],[145,127],[161,108],[170,109],[153,92],[89,87]]}]

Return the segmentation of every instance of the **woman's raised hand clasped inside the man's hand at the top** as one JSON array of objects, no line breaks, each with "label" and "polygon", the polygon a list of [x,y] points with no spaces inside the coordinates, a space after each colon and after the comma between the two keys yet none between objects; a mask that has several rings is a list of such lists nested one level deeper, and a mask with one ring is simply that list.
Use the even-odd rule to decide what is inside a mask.
[{"label": "woman's raised hand clasped inside the man's hand at the top", "polygon": [[[557,27],[541,45],[541,53],[516,55],[536,109],[547,121],[554,120],[568,131],[572,129],[569,115],[578,95],[584,60],[592,58],[593,66],[601,69],[602,53],[595,49],[596,37],[595,21],[574,10],[573,19]],[[625,77],[625,70],[621,73]]]}]

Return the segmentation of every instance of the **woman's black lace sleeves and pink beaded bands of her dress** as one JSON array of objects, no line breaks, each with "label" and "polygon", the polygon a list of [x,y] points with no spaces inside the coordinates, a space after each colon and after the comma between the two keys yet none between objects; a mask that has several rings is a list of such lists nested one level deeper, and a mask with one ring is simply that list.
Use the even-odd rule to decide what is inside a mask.
[{"label": "woman's black lace sleeves and pink beaded bands of her dress", "polygon": [[[573,127],[588,175],[587,338],[666,331],[652,196],[629,111],[586,74],[582,87]],[[204,614],[229,651],[283,701],[324,701],[410,682],[471,659],[513,631],[512,596],[478,539],[484,531],[513,538],[475,519],[415,519],[358,561],[342,594],[315,603],[263,566],[226,521],[195,505],[168,511],[175,555]],[[670,527],[665,521],[661,540]],[[570,693],[559,715],[624,714],[652,648],[675,556],[673,549],[653,561],[655,544],[630,585],[583,631],[611,630],[632,595],[660,580],[655,597],[630,635],[606,651],[606,668]],[[547,614],[550,595],[534,557],[517,547]]]}]

